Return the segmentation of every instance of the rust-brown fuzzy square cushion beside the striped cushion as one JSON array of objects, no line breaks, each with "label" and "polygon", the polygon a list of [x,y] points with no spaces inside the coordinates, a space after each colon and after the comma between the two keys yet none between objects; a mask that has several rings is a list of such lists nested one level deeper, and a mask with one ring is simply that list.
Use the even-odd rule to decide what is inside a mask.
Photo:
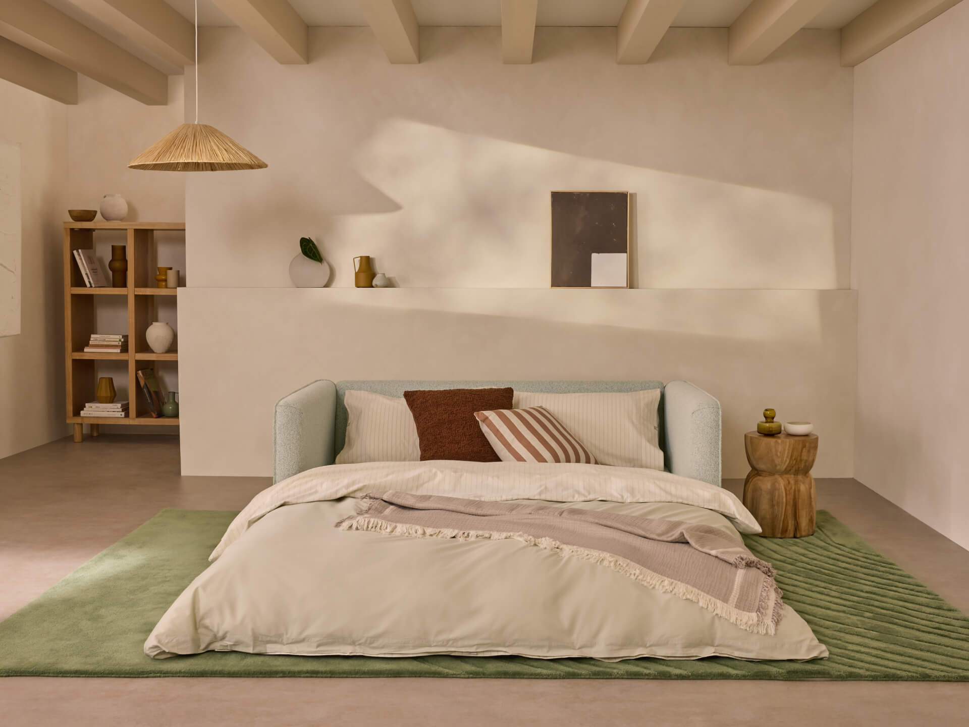
[{"label": "rust-brown fuzzy square cushion beside the striped cushion", "polygon": [[511,409],[514,395],[511,387],[404,392],[421,440],[421,459],[501,461],[478,426],[475,412]]}]

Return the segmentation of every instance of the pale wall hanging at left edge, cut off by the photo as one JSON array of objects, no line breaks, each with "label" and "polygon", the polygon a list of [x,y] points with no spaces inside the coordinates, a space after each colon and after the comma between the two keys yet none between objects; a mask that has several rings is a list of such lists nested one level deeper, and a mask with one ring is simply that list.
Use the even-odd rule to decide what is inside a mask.
[{"label": "pale wall hanging at left edge, cut off by the photo", "polygon": [[0,336],[20,332],[20,147],[0,143]]}]

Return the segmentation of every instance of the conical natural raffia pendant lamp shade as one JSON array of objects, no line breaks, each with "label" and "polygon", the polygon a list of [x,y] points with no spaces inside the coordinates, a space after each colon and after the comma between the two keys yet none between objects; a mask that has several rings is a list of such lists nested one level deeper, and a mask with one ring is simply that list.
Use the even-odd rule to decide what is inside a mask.
[{"label": "conical natural raffia pendant lamp shade", "polygon": [[130,169],[156,172],[231,172],[267,166],[251,151],[208,124],[182,124],[128,165]]}]

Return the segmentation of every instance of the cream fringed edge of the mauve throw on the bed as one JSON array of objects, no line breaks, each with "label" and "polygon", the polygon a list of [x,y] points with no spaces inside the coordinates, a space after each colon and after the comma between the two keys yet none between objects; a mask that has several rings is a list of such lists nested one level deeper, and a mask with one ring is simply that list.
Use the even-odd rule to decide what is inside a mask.
[{"label": "cream fringed edge of the mauve throw on the bed", "polygon": [[[702,590],[692,585],[687,585],[680,581],[674,581],[672,578],[660,576],[657,573],[646,570],[641,565],[638,565],[631,560],[619,557],[618,555],[613,555],[612,553],[604,553],[603,551],[594,551],[589,548],[579,548],[578,546],[566,545],[557,540],[552,540],[551,538],[535,538],[523,532],[455,530],[452,528],[424,527],[423,525],[390,522],[381,520],[379,518],[366,517],[371,505],[373,505],[373,503],[379,499],[381,498],[377,496],[369,494],[365,495],[362,498],[364,506],[360,512],[357,515],[351,515],[350,517],[344,518],[343,520],[337,522],[335,527],[338,527],[341,530],[379,532],[385,535],[406,535],[409,537],[418,538],[453,538],[455,540],[462,541],[519,540],[527,545],[536,546],[552,553],[558,553],[562,557],[572,555],[574,557],[581,558],[582,560],[589,560],[600,565],[605,565],[617,573],[631,578],[637,583],[645,585],[648,588],[653,588],[662,593],[672,593],[672,595],[683,598],[684,600],[693,601],[701,608],[713,613],[715,616],[726,618],[731,623],[735,623],[737,626],[742,628],[744,631],[749,631],[754,634],[766,634],[773,636],[776,632],[777,623],[780,621],[781,616],[783,616],[784,613],[784,604],[781,602],[780,588],[778,588],[774,583],[772,574],[767,574],[766,571],[761,568],[759,568],[759,570],[764,572],[765,578],[761,585],[761,595],[758,600],[757,612],[751,613],[749,611],[741,611],[734,606],[725,603],[724,601],[714,598],[708,593],[704,593]],[[741,557],[746,558],[747,556]],[[757,560],[757,558],[754,558],[754,560]],[[758,562],[766,565],[766,563],[763,561]],[[767,565],[767,567],[770,568],[769,565]],[[773,568],[770,568],[770,570],[772,571]],[[771,595],[774,596],[773,603],[771,603]]]}]

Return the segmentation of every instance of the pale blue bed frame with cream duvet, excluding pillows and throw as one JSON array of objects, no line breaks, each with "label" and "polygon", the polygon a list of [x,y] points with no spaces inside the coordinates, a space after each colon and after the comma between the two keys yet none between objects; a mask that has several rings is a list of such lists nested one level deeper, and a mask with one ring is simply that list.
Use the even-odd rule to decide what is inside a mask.
[{"label": "pale blue bed frame with cream duvet, excluding pillows and throw", "polygon": [[[516,396],[656,390],[652,414],[663,469],[452,459],[333,463],[347,442],[347,392],[396,398],[416,390],[489,387],[512,387]],[[473,501],[476,512],[512,504],[533,519],[558,509],[563,517],[544,521],[556,525],[674,522],[696,548],[700,533],[728,546],[739,542],[742,549],[738,533],[759,527],[735,495],[719,487],[719,404],[686,382],[318,381],[279,402],[274,427],[275,484],[230,525],[212,564],[148,637],[148,655],[827,656],[779,596],[776,606],[767,599],[776,622],[762,618],[752,625],[724,616],[722,602],[739,602],[739,585],[711,599],[702,585],[684,587],[685,577],[656,577],[628,559],[563,546],[564,538],[402,529],[360,514],[375,502],[389,513],[390,501],[419,508],[444,503],[445,509]],[[381,493],[390,495],[387,502]],[[663,548],[697,555],[683,539]],[[713,560],[734,572],[723,557]],[[768,565],[756,565],[772,575]],[[772,578],[763,580],[765,594],[768,582],[775,588]]]}]

